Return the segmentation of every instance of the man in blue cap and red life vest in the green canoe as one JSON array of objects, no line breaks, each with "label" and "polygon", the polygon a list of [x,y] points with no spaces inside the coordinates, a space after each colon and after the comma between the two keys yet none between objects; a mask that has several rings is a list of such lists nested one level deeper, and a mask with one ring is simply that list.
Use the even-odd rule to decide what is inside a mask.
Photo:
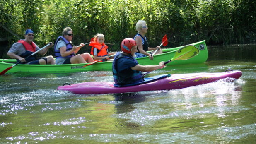
[{"label": "man in blue cap and red life vest in the green canoe", "polygon": [[[14,43],[10,50],[8,51],[7,55],[11,58],[17,59],[17,62],[21,61],[22,64],[29,64],[29,65],[46,65],[46,64],[55,64],[55,59],[52,55],[43,57],[43,58],[36,58],[35,55],[25,59],[27,56],[31,55],[32,53],[36,52],[40,48],[33,42],[34,39],[34,31],[31,29],[27,29],[24,35],[25,39],[19,40],[18,42]],[[45,55],[47,50],[53,46],[53,43],[50,42],[50,45],[44,48],[43,50],[39,51],[40,55]]]}]

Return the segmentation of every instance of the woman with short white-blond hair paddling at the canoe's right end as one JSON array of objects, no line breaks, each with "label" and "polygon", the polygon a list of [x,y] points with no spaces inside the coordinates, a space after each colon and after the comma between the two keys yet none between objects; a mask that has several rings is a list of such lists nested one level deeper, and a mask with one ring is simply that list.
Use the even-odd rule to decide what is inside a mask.
[{"label": "woman with short white-blond hair paddling at the canoe's right end", "polygon": [[154,51],[150,52],[150,53],[147,53],[147,51],[148,50],[157,50],[158,48],[159,49],[157,50],[156,54],[163,53],[162,50],[160,49],[160,46],[157,46],[155,48],[148,47],[147,37],[145,36],[145,34],[147,34],[147,30],[148,30],[146,21],[139,20],[136,23],[136,30],[138,31],[138,34],[136,34],[133,39],[137,43],[138,52],[135,53],[135,55],[136,55],[135,58],[141,58],[141,57],[148,56],[150,58],[150,60],[153,60],[154,57],[153,57],[152,53],[154,53]]}]

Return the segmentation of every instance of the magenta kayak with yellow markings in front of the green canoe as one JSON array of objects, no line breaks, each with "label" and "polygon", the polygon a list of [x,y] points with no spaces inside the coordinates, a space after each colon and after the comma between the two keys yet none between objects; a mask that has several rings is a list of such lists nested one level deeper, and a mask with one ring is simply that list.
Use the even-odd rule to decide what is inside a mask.
[{"label": "magenta kayak with yellow markings in front of the green canoe", "polygon": [[153,82],[135,86],[115,87],[113,82],[82,82],[78,84],[59,86],[58,90],[71,91],[74,94],[111,94],[138,91],[170,90],[206,84],[225,78],[239,79],[241,76],[241,71],[171,74],[171,77],[165,77]]}]

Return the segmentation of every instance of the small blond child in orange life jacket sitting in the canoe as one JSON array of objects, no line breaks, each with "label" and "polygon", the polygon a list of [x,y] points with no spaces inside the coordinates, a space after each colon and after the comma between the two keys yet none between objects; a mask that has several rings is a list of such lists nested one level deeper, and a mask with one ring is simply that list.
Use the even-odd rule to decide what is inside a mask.
[{"label": "small blond child in orange life jacket sitting in the canoe", "polygon": [[[92,41],[89,45],[91,48],[91,55],[94,56],[94,60],[101,60],[106,58],[106,60],[102,61],[110,61],[109,55],[114,55],[115,53],[109,53],[108,46],[104,43],[105,38],[103,34],[96,34],[94,36],[94,41]],[[113,60],[113,58],[111,59]]]}]

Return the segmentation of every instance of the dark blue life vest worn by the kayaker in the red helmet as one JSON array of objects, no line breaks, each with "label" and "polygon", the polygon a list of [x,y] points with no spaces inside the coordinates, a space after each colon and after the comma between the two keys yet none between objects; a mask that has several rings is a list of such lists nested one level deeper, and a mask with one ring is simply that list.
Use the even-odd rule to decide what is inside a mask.
[{"label": "dark blue life vest worn by the kayaker in the red helmet", "polygon": [[131,68],[129,68],[123,70],[123,72],[118,72],[117,62],[121,58],[131,59],[138,64],[138,61],[131,55],[124,55],[120,52],[116,53],[112,65],[114,82],[119,85],[124,85],[144,81],[141,71],[132,70]]}]

